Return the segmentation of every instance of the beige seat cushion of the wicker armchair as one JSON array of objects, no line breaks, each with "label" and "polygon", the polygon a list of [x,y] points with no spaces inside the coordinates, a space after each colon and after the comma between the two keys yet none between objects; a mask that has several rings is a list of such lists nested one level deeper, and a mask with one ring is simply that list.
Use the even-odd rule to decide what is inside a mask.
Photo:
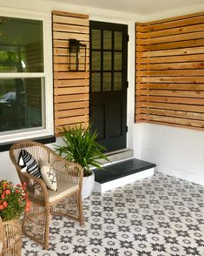
[{"label": "beige seat cushion of the wicker armchair", "polygon": [[[63,199],[72,192],[76,192],[79,189],[79,185],[70,183],[69,181],[57,180],[57,191],[49,190],[49,203],[54,203],[59,199]],[[42,194],[37,196],[42,197]]]}]

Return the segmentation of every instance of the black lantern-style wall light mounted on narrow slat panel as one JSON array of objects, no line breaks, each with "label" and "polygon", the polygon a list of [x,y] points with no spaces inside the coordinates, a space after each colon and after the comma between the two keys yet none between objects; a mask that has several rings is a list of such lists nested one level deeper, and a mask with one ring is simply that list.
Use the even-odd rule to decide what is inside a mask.
[{"label": "black lantern-style wall light mounted on narrow slat panel", "polygon": [[87,45],[69,39],[69,71],[86,71]]}]

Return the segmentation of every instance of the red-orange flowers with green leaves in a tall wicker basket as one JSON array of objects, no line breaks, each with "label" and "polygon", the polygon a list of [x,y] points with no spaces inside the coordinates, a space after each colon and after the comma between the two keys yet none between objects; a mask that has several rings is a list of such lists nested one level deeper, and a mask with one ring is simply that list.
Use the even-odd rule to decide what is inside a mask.
[{"label": "red-orange flowers with green leaves in a tall wicker basket", "polygon": [[30,208],[26,185],[0,181],[0,219],[3,229],[3,255],[20,256],[22,251],[22,226],[20,217]]}]

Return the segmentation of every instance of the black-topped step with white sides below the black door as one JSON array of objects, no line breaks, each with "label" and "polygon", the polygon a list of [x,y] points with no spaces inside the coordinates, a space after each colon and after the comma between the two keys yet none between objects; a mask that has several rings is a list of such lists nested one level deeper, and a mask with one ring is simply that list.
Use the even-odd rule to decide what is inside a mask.
[{"label": "black-topped step with white sides below the black door", "polygon": [[104,169],[95,169],[95,187],[97,192],[106,192],[118,186],[132,183],[139,179],[154,175],[155,164],[136,158],[128,159],[113,165],[104,166]]}]

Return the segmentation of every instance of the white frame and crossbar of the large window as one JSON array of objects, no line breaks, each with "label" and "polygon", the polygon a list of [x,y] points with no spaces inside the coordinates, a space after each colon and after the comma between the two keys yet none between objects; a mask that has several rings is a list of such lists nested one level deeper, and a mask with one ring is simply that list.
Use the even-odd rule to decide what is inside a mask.
[{"label": "white frame and crossbar of the large window", "polygon": [[[51,15],[49,13],[11,10],[0,8],[0,16],[16,17],[24,19],[33,19],[43,21],[43,64],[44,71],[39,73],[3,73],[0,72],[1,78],[13,77],[43,77],[44,78],[44,103],[42,105],[42,114],[44,127],[31,129],[22,129],[8,132],[0,132],[0,144],[10,143],[20,139],[45,138],[54,136],[54,119],[53,119],[53,77],[52,77],[52,30]],[[43,107],[44,106],[44,107]]]}]

